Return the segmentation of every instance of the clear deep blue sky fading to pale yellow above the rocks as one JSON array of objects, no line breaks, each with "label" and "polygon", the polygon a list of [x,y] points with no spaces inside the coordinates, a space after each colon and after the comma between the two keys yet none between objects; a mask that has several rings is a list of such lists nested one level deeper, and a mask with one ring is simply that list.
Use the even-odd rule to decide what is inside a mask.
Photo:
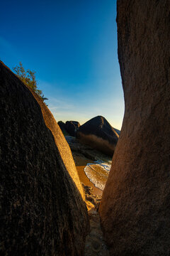
[{"label": "clear deep blue sky fading to pale yellow above the rocks", "polygon": [[115,0],[3,1],[0,59],[35,70],[57,121],[103,115],[120,129],[123,89]]}]

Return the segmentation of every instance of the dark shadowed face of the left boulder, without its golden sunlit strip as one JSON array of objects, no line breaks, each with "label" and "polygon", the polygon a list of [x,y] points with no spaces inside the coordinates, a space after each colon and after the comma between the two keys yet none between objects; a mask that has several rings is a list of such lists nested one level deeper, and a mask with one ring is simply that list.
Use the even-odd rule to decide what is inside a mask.
[{"label": "dark shadowed face of the left boulder, without its golden sunlit strip", "polygon": [[38,102],[0,63],[1,255],[83,255],[86,206]]}]

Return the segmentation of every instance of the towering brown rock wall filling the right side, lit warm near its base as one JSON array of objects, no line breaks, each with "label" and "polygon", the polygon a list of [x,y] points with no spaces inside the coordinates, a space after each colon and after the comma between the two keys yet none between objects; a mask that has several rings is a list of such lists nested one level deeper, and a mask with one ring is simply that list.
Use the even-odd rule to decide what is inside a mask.
[{"label": "towering brown rock wall filling the right side, lit warm near its base", "polygon": [[118,1],[125,116],[100,214],[111,255],[170,255],[170,4]]}]

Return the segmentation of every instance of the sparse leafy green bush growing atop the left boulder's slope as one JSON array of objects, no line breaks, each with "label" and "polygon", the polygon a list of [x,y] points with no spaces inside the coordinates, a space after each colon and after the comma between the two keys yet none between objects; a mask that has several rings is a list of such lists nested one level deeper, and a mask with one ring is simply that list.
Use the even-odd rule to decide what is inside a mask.
[{"label": "sparse leafy green bush growing atop the left boulder's slope", "polygon": [[37,81],[35,80],[35,71],[34,70],[25,70],[23,64],[20,62],[18,66],[14,67],[18,78],[20,78],[26,85],[28,85],[38,96],[41,97],[42,101],[48,100],[42,93],[42,90],[39,90],[37,87]]}]

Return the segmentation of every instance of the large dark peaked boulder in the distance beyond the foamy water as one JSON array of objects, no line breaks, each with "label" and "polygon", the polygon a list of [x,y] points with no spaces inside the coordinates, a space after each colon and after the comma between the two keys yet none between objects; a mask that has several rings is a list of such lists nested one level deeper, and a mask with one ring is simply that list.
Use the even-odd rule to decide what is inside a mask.
[{"label": "large dark peaked boulder in the distance beyond the foamy water", "polygon": [[113,155],[115,145],[118,142],[118,134],[111,127],[111,124],[101,116],[94,117],[81,125],[77,131],[77,138],[109,155]]}]

